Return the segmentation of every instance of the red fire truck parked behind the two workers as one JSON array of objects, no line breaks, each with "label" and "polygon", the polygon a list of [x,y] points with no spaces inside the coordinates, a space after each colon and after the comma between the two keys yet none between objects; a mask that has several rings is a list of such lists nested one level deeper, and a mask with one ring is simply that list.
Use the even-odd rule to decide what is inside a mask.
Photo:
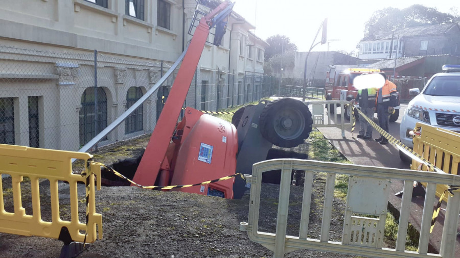
[{"label": "red fire truck parked behind the two workers", "polygon": [[[326,100],[351,100],[356,98],[358,90],[353,87],[353,80],[362,73],[380,72],[380,69],[360,68],[356,65],[330,65],[326,72],[325,96]],[[395,107],[395,113],[390,116],[390,122],[394,122],[399,116],[399,95],[398,107]],[[338,105],[337,105],[338,106]],[[358,105],[355,105],[359,108]],[[331,114],[335,113],[333,105],[330,106]],[[344,117],[350,120],[351,111],[349,106],[345,107]]]}]

